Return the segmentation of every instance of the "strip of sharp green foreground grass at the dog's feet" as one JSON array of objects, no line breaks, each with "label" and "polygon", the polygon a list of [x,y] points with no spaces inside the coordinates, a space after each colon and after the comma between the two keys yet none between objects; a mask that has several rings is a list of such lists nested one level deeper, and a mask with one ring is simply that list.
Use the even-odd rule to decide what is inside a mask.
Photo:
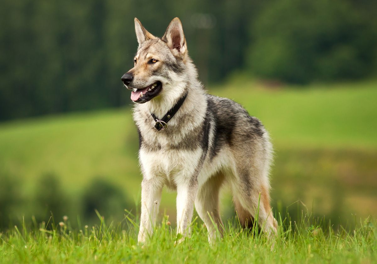
[{"label": "strip of sharp green foreground grass at the dog's feet", "polygon": [[[289,219],[289,218],[288,218]],[[104,221],[74,230],[69,221],[54,226],[15,227],[0,234],[2,263],[375,263],[376,223],[360,222],[347,232],[303,216],[300,223],[280,218],[279,235],[244,230],[228,221],[222,240],[210,246],[207,230],[194,220],[192,236],[181,238],[164,217],[143,246],[129,220],[114,227]],[[273,248],[272,244],[274,244]]]}]

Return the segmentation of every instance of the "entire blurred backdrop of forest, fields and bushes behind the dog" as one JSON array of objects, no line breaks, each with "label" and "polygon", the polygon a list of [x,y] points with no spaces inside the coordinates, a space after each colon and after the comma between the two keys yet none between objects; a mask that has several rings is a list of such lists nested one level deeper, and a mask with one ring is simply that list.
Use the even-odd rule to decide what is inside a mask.
[{"label": "entire blurred backdrop of forest, fields and bushes behind the dog", "polygon": [[[372,0],[3,0],[0,231],[139,214],[129,91],[133,18],[162,36],[183,23],[210,93],[270,131],[274,212],[354,225],[377,212],[377,2]],[[222,214],[234,215],[224,189]],[[175,222],[175,194],[161,212]]]}]

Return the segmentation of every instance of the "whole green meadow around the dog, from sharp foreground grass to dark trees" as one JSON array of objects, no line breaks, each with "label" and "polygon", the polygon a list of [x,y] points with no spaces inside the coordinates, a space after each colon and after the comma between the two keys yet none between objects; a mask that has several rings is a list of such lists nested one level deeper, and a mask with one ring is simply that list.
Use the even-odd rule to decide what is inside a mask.
[{"label": "whole green meadow around the dog, from sharp foreground grass to dark trees", "polygon": [[[130,108],[0,123],[0,261],[372,263],[377,238],[376,87],[373,80],[300,87],[236,76],[210,88],[212,94],[244,105],[271,134],[272,204],[282,219],[272,251],[263,236],[237,226],[227,189],[222,215],[224,222],[233,222],[214,247],[207,245],[200,220],[193,224],[193,238],[174,246],[175,194],[169,192],[162,197],[158,235],[144,249],[136,245],[133,223],[138,221],[141,174]],[[56,181],[46,180],[50,176]],[[93,185],[93,179],[99,183]],[[104,183],[115,187],[99,192],[96,188]],[[96,196],[100,203],[108,192],[125,200],[112,197],[102,210],[97,206],[109,226],[94,210],[94,218],[82,215],[83,193],[94,196],[96,206]],[[38,204],[41,195],[49,200],[57,194],[65,198],[46,208]],[[59,226],[64,214],[69,223]]]}]

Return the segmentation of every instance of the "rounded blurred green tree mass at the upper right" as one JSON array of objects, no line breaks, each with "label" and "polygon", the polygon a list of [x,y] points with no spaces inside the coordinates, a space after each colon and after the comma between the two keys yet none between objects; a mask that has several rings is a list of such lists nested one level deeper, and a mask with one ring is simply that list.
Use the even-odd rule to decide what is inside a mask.
[{"label": "rounded blurred green tree mass at the upper right", "polygon": [[362,6],[344,0],[271,2],[252,27],[251,70],[296,83],[371,76],[376,20]]}]

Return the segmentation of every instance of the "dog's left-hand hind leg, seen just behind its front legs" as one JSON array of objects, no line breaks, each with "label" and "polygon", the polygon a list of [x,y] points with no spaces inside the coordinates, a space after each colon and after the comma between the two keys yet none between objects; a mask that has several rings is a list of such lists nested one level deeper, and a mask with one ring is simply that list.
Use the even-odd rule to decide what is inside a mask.
[{"label": "dog's left-hand hind leg, seen just behind its front legs", "polygon": [[208,230],[208,241],[213,243],[216,240],[217,230],[223,234],[223,224],[219,212],[219,192],[224,175],[217,173],[212,175],[198,191],[195,199],[195,209],[203,220]]}]

